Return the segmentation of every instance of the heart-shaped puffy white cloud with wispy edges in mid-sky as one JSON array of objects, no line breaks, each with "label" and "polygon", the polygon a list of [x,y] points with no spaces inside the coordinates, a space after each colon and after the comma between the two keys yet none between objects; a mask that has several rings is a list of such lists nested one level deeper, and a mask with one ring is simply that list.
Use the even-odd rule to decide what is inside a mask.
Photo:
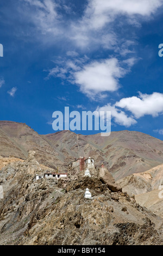
[{"label": "heart-shaped puffy white cloud with wispy edges in mid-sky", "polygon": [[102,99],[104,92],[115,92],[120,87],[119,79],[124,77],[136,58],[123,60],[120,64],[117,58],[94,60],[90,63],[87,57],[67,60],[65,65],[49,70],[47,79],[51,76],[67,79],[77,84],[80,91],[95,100],[95,97]]}]

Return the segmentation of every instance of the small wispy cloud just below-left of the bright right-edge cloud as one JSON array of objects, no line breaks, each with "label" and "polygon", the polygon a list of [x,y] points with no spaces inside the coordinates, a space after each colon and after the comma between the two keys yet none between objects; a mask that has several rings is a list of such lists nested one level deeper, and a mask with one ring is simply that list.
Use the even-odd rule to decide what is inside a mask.
[{"label": "small wispy cloud just below-left of the bright right-edge cloud", "polygon": [[115,106],[111,106],[111,104],[105,105],[103,107],[98,107],[96,111],[111,111],[111,118],[113,118],[115,123],[118,125],[129,127],[137,123],[137,121],[133,117],[128,117],[125,112],[121,111]]}]

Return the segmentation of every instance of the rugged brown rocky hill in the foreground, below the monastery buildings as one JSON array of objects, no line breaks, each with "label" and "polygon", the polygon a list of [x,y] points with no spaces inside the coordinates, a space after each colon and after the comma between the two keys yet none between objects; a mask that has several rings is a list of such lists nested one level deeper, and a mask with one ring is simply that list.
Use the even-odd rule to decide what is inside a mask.
[{"label": "rugged brown rocky hill in the foreground, below the monastery buildings", "polygon": [[[163,245],[162,219],[107,182],[34,181],[26,164],[22,171],[14,164],[0,172],[1,245]],[[92,199],[84,198],[86,188]]]}]

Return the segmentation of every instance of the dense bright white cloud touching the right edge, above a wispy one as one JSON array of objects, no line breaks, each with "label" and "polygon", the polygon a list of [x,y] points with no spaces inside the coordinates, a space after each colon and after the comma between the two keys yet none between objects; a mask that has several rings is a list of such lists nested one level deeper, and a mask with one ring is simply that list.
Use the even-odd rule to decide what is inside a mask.
[{"label": "dense bright white cloud touching the right edge, above a wispy one", "polygon": [[144,115],[152,115],[158,117],[163,113],[163,94],[141,94],[139,96],[127,97],[116,102],[115,106],[124,108],[133,113],[135,118],[143,117]]}]

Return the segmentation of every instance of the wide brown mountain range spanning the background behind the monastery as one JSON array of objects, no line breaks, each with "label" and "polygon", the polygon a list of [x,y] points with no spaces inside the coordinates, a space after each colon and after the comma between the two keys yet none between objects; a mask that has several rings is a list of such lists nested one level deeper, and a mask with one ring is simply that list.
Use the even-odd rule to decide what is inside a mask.
[{"label": "wide brown mountain range spanning the background behind the monastery", "polygon": [[26,124],[0,121],[0,155],[25,160],[29,150],[36,151],[39,163],[61,170],[79,156],[91,156],[96,166],[104,163],[115,180],[163,162],[163,142],[141,132],[111,132],[108,137],[70,131],[39,135]]}]

